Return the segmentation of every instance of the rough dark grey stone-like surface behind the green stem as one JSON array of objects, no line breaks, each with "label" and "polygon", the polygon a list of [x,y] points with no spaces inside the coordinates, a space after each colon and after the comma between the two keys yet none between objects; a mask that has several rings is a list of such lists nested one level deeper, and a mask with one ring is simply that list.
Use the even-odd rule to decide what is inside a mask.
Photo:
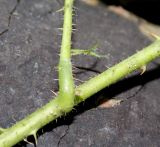
[{"label": "rough dark grey stone-like surface behind the green stem", "polygon": [[[52,98],[57,91],[56,66],[62,26],[62,7],[55,0],[0,0],[0,126],[9,127]],[[74,57],[76,78],[89,79],[148,45],[136,24],[100,5],[76,1],[73,46],[98,42],[107,59]],[[39,132],[37,147],[157,147],[160,144],[158,60],[148,72],[96,94],[58,123]],[[78,82],[77,82],[78,84]],[[98,108],[100,99],[124,99],[119,106]],[[17,146],[31,145],[22,143]]]}]

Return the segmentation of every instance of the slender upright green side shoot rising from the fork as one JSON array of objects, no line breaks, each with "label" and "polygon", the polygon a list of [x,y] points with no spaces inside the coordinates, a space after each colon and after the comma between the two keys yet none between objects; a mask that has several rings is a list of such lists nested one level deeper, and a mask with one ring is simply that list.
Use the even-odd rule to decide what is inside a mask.
[{"label": "slender upright green side shoot rising from the fork", "polygon": [[65,0],[63,36],[59,61],[59,101],[61,107],[70,111],[74,106],[74,81],[71,64],[71,34],[72,34],[72,7],[73,0]]}]

